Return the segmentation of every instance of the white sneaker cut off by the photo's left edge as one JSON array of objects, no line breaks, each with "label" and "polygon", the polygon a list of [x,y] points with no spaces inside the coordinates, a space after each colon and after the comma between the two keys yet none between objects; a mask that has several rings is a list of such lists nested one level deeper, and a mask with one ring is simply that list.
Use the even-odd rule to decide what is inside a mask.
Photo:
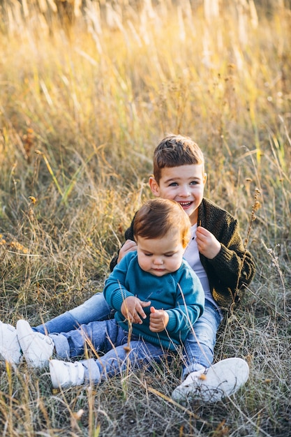
[{"label": "white sneaker cut off by the photo's left edge", "polygon": [[22,357],[14,326],[0,322],[0,360],[18,364]]}]

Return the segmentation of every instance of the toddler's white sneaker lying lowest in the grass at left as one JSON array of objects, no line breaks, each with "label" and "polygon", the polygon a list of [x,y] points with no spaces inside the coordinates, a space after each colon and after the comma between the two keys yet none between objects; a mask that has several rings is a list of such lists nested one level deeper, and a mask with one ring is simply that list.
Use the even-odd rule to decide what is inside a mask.
[{"label": "toddler's white sneaker lying lowest in the grass at left", "polygon": [[67,388],[84,383],[85,368],[82,363],[50,360],[52,387]]}]

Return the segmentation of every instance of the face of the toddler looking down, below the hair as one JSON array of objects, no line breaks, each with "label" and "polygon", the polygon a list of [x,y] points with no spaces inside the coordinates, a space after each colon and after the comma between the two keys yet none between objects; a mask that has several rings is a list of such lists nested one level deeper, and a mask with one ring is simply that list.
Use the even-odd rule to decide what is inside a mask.
[{"label": "face of the toddler looking down, below the hair", "polygon": [[155,276],[176,272],[181,266],[183,254],[179,230],[167,232],[162,238],[137,238],[137,259],[140,268]]}]

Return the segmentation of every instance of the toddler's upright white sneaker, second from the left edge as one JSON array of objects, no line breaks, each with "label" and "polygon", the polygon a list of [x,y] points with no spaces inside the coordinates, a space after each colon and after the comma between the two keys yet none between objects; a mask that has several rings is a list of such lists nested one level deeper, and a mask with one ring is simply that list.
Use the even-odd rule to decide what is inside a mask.
[{"label": "toddler's upright white sneaker, second from the left edge", "polygon": [[40,332],[34,332],[27,320],[18,320],[16,330],[27,365],[29,367],[47,366],[54,352],[52,339]]}]

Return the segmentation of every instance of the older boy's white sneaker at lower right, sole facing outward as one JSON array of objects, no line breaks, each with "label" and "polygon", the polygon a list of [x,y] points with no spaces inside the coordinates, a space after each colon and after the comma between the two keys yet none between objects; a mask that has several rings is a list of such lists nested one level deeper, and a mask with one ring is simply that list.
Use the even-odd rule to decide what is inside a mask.
[{"label": "older boy's white sneaker at lower right, sole facing outward", "polygon": [[248,363],[241,358],[227,358],[209,367],[204,373],[190,373],[172,392],[172,399],[186,403],[193,399],[217,402],[229,397],[248,380]]}]

